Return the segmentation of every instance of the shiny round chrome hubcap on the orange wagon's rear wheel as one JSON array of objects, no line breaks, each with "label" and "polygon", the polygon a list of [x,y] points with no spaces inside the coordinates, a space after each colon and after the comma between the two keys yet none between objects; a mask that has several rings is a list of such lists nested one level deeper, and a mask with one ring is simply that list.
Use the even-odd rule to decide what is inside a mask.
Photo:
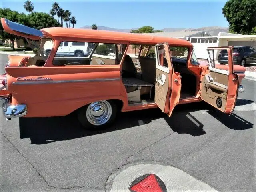
[{"label": "shiny round chrome hubcap on the orange wagon's rear wheel", "polygon": [[110,119],[112,107],[106,100],[93,102],[86,110],[86,118],[93,125],[103,125]]}]

